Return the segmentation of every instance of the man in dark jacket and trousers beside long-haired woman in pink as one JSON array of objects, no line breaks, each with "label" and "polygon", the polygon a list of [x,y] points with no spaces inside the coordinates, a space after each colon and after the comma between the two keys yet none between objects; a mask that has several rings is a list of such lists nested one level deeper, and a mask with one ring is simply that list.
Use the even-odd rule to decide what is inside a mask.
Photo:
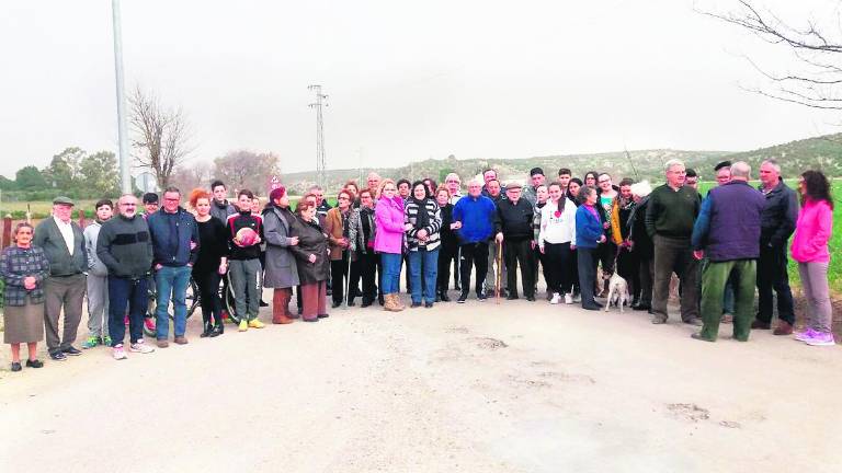
[{"label": "man in dark jacket and trousers beside long-haired woman in pink", "polygon": [[772,325],[772,290],[777,293],[778,323],[775,335],[789,335],[795,324],[793,291],[786,274],[786,247],[798,219],[798,200],[793,189],[781,178],[781,166],[774,159],[760,164],[760,192],[765,206],[760,220],[760,258],[758,259],[758,315],[752,328],[769,330]]}]

